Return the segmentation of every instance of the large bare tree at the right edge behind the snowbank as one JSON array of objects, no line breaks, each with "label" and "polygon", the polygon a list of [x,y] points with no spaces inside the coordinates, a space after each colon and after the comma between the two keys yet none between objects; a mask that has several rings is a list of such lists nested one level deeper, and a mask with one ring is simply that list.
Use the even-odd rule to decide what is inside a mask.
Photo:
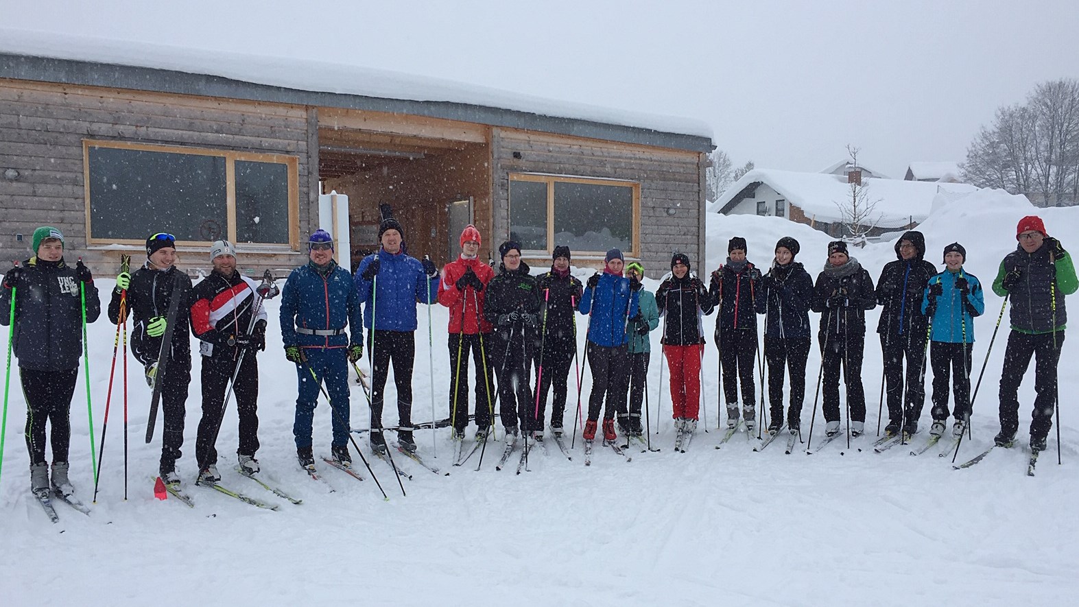
[{"label": "large bare tree at the right edge behind the snowbank", "polygon": [[1041,206],[1079,202],[1079,81],[1035,87],[1023,105],[997,109],[967,149],[965,178],[1025,194]]}]

